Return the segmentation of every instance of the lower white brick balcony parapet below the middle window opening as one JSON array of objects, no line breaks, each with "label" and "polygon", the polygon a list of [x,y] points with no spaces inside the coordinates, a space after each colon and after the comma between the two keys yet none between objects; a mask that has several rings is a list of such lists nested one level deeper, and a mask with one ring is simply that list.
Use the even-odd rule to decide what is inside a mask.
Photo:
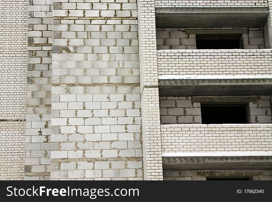
[{"label": "lower white brick balcony parapet below the middle window opening", "polygon": [[272,124],[161,125],[163,153],[271,151]]}]

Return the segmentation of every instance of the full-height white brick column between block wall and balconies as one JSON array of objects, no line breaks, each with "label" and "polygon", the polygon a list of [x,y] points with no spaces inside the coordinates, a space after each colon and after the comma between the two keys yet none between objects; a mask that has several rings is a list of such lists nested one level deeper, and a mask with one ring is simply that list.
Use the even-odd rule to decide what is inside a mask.
[{"label": "full-height white brick column between block wall and balconies", "polygon": [[138,0],[138,29],[144,179],[162,180],[154,0]]}]

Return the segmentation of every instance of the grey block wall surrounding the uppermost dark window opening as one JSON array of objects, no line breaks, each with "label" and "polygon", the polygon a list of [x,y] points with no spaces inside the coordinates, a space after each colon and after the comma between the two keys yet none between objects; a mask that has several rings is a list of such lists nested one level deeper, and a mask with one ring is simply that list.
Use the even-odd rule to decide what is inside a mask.
[{"label": "grey block wall surrounding the uppermost dark window opening", "polygon": [[[157,28],[157,49],[197,49],[196,35],[186,34],[186,31],[195,30],[196,28]],[[263,28],[197,28],[201,30],[237,30],[247,29],[247,33],[242,34],[243,49],[264,49],[264,33]],[[266,33],[266,32],[265,32]]]}]

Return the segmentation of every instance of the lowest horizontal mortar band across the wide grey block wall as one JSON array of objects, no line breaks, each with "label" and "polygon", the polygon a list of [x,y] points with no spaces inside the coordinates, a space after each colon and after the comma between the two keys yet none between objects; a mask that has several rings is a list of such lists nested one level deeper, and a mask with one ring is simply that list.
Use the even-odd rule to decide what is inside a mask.
[{"label": "lowest horizontal mortar band across the wide grey block wall", "polygon": [[[51,150],[52,151],[52,150]],[[63,150],[62,150],[63,151]],[[82,161],[141,161],[142,157],[119,157],[119,158],[69,158],[69,159],[63,159],[63,158],[56,158],[52,159],[51,162],[57,163],[57,162],[82,162]]]}]

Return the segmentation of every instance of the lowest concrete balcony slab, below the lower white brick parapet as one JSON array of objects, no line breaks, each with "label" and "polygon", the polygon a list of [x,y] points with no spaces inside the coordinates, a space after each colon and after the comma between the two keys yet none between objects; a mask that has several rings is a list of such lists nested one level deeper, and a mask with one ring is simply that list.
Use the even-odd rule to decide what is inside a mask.
[{"label": "lowest concrete balcony slab, below the lower white brick parapet", "polygon": [[272,169],[271,156],[163,157],[163,170]]}]

